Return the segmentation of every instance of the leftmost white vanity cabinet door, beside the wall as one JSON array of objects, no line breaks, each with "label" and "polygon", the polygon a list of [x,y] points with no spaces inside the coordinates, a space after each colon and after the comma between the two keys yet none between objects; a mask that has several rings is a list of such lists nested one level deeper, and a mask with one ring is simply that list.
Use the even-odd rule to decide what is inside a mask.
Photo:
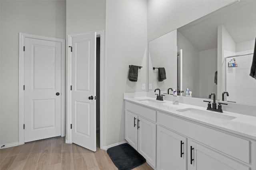
[{"label": "leftmost white vanity cabinet door, beside the wall", "polygon": [[124,114],[125,122],[125,139],[128,143],[134,147],[134,149],[138,149],[138,129],[137,129],[137,119],[138,116],[130,111],[125,111]]}]

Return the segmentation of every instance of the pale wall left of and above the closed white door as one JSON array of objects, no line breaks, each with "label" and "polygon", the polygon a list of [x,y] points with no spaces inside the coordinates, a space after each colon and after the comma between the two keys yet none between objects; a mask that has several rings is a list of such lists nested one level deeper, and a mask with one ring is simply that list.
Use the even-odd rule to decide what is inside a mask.
[{"label": "pale wall left of and above the closed white door", "polygon": [[66,37],[64,0],[0,0],[0,144],[18,142],[19,32]]}]

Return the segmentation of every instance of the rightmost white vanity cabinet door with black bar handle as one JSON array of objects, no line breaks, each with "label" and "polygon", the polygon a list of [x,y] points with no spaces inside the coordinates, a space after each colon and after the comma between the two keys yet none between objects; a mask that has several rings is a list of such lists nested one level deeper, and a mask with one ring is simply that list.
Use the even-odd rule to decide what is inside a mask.
[{"label": "rightmost white vanity cabinet door with black bar handle", "polygon": [[217,150],[188,139],[188,170],[249,170]]}]

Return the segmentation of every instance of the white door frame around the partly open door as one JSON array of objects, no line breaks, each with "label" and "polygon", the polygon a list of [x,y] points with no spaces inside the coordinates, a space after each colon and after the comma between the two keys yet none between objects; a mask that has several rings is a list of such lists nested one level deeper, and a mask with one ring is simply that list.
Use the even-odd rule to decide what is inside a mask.
[{"label": "white door frame around the partly open door", "polygon": [[[90,31],[92,32],[92,31]],[[68,46],[72,46],[72,38],[78,35],[84,35],[90,32],[83,32],[83,33],[74,33],[68,35]],[[96,37],[100,37],[100,149],[103,148],[104,143],[104,131],[103,127],[105,123],[105,57],[104,57],[104,30],[93,31],[96,32]],[[71,50],[68,48],[68,55],[67,55],[67,87],[71,86]],[[70,88],[66,89],[67,94],[67,103],[66,103],[66,143],[72,143],[72,131],[70,128],[70,124],[72,123],[72,112],[71,112],[71,90]],[[96,133],[96,132],[95,132]]]}]

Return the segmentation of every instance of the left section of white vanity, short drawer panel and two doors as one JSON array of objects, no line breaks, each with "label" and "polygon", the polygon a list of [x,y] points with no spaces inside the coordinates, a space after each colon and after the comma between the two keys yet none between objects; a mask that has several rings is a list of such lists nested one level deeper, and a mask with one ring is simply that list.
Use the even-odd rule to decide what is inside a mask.
[{"label": "left section of white vanity, short drawer panel and two doors", "polygon": [[156,111],[125,102],[125,139],[156,167]]}]

